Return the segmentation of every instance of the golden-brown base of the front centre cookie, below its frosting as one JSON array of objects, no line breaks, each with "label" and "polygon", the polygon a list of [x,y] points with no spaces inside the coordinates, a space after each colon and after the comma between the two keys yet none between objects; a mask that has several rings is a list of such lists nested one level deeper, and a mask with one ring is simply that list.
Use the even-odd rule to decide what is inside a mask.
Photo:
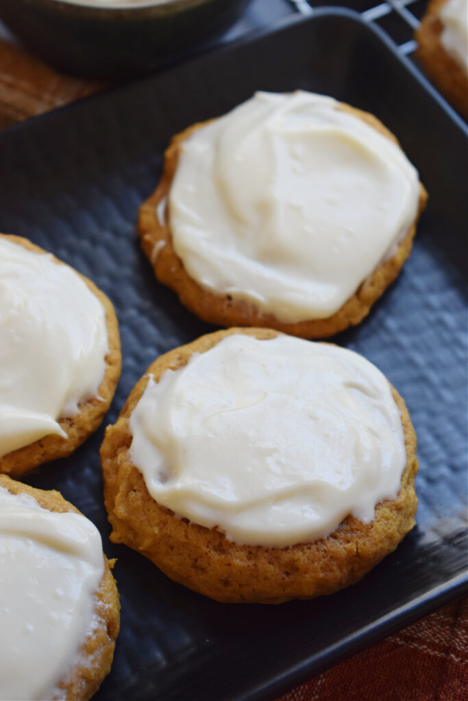
[{"label": "golden-brown base of the front centre cookie, below its frosting", "polygon": [[278,335],[270,329],[227,329],[175,348],[150,365],[118,421],[107,426],[101,461],[111,540],[133,547],[171,579],[217,601],[279,604],[331,594],[361,579],[415,524],[416,437],[405,403],[393,388],[407,455],[398,496],[377,505],[370,524],[349,516],[328,538],[314,543],[282,548],[236,545],[220,531],[180,519],[156,503],[131,463],[128,418],[145,390],[148,373],[157,382],[166,369],[186,365],[192,353],[203,353],[234,333],[258,339]]}]

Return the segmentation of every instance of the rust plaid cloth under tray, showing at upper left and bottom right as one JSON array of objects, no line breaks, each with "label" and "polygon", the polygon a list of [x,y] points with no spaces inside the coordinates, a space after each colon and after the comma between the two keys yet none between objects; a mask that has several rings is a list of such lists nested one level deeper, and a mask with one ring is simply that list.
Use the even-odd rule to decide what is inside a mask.
[{"label": "rust plaid cloth under tray, showing at upper left and bottom right", "polygon": [[[0,128],[105,87],[0,41]],[[281,701],[468,701],[468,599],[422,618]]]}]

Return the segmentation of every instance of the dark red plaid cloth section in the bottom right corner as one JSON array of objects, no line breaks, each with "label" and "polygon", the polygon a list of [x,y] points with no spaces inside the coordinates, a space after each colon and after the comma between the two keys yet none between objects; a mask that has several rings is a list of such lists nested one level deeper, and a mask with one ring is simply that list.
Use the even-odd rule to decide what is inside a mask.
[{"label": "dark red plaid cloth section in the bottom right corner", "polygon": [[467,701],[468,599],[295,688],[281,701]]}]

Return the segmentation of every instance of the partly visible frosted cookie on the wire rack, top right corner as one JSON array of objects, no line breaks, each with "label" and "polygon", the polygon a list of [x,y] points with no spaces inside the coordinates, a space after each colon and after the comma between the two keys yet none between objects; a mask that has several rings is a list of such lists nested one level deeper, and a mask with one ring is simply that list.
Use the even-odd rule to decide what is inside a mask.
[{"label": "partly visible frosted cookie on the wire rack, top right corner", "polygon": [[417,29],[416,55],[447,100],[468,117],[467,0],[431,0]]}]

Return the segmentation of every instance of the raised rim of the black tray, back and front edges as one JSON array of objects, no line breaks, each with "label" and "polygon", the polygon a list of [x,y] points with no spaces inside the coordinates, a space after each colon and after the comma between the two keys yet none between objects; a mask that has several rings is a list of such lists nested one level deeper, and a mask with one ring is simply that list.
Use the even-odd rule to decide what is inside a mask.
[{"label": "raised rim of the black tray, back and front edges", "polygon": [[[262,27],[254,30],[253,32],[249,32],[249,34],[243,36],[241,39],[237,39],[236,41],[232,41],[223,46],[210,48],[210,50],[196,53],[195,55],[192,55],[189,60],[182,60],[176,64],[173,64],[171,67],[159,70],[158,72],[152,72],[140,77],[137,80],[128,81],[119,86],[114,86],[107,90],[103,90],[100,93],[82,97],[70,104],[57,107],[44,114],[33,116],[25,121],[13,124],[0,131],[0,141],[8,138],[8,135],[11,132],[22,131],[24,129],[29,130],[29,128],[36,124],[44,121],[51,121],[54,118],[61,119],[62,114],[66,116],[67,111],[79,108],[79,105],[81,104],[85,104],[89,101],[98,102],[100,100],[107,100],[110,95],[125,93],[131,86],[135,86],[137,84],[143,85],[143,83],[150,83],[153,79],[157,79],[159,76],[170,75],[171,72],[177,71],[187,64],[196,63],[199,60],[215,60],[216,55],[220,55],[221,53],[225,52],[231,53],[232,51],[235,53],[241,46],[255,43],[258,40],[266,38],[267,36],[272,36],[280,32],[287,32],[290,27],[293,27],[296,24],[314,22],[319,18],[329,16],[347,18],[347,20],[352,20],[358,25],[361,25],[361,27],[365,27],[366,31],[375,34],[380,42],[384,43],[387,49],[390,50],[396,60],[400,64],[403,64],[406,70],[410,72],[413,79],[417,81],[417,83],[419,83],[420,86],[422,86],[422,88],[429,93],[429,95],[431,95],[439,107],[446,113],[446,116],[450,118],[450,120],[455,123],[455,125],[460,128],[465,135],[468,135],[468,125],[464,123],[462,118],[437,92],[436,88],[429,83],[415,64],[413,64],[413,62],[411,62],[405,55],[401,55],[396,43],[394,43],[394,41],[383,29],[375,25],[373,22],[363,20],[359,13],[351,9],[342,7],[323,7],[316,9],[314,8],[314,13],[312,13],[312,15],[293,13],[274,23],[274,25]],[[250,690],[244,691],[241,696],[233,696],[232,700],[234,701],[234,699],[238,699],[239,701],[260,701],[270,698],[274,699],[279,695],[286,693],[286,691],[299,686],[301,683],[313,679],[314,676],[320,674],[325,669],[335,667],[343,660],[361,652],[368,646],[376,644],[378,641],[385,639],[399,629],[410,625],[418,618],[435,611],[436,608],[448,604],[448,602],[453,601],[458,597],[462,597],[464,594],[468,594],[468,569],[457,576],[453,576],[443,584],[432,587],[432,589],[429,589],[424,594],[420,594],[420,596],[411,599],[410,601],[406,602],[406,604],[403,604],[398,608],[394,608],[392,611],[383,615],[374,622],[357,629],[353,634],[349,634],[344,639],[341,639],[338,644],[328,646],[328,648],[321,650],[320,653],[314,653],[307,656],[307,658],[303,658],[300,662],[297,662],[295,665],[291,665],[288,669],[286,669],[286,671],[283,670],[280,674],[273,674],[269,676],[267,681],[264,683],[259,683],[255,687],[250,688]],[[330,655],[333,657],[331,660]]]}]

